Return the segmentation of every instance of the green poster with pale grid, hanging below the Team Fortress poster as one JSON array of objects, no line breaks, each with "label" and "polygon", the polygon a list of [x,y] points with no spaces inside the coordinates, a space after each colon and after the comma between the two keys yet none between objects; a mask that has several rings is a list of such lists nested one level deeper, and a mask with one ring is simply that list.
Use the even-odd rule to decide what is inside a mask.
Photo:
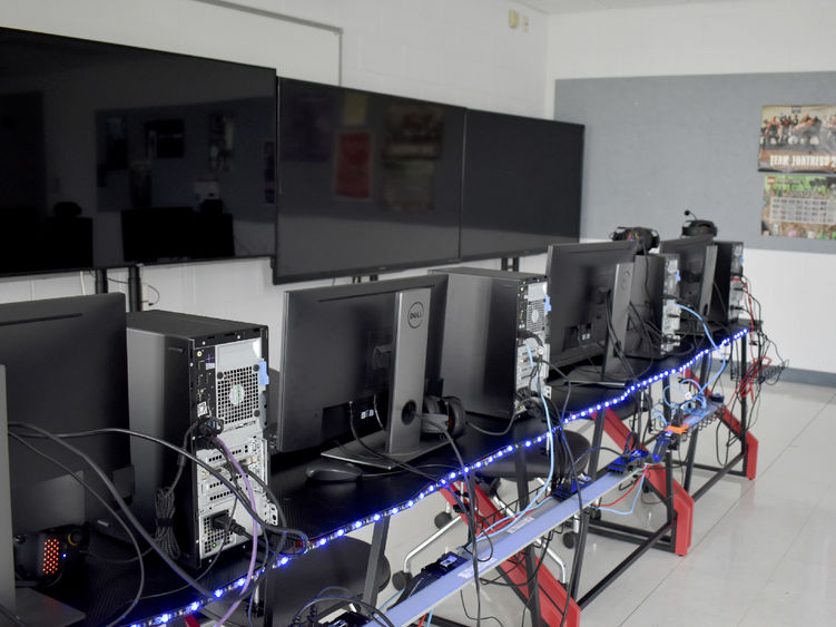
[{"label": "green poster with pale grid, hanging below the Team Fortress poster", "polygon": [[836,239],[836,176],[766,176],[760,224],[764,235]]}]

